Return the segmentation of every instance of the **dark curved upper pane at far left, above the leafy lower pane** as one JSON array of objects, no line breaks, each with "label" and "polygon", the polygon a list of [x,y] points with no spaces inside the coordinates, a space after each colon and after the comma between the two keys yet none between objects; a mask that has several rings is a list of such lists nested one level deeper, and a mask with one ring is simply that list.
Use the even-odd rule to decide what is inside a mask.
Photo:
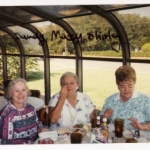
[{"label": "dark curved upper pane at far left, above the leafy lower pane", "polygon": [[0,31],[1,40],[3,41],[5,47],[6,47],[6,53],[8,54],[19,54],[19,49],[14,41],[14,39],[8,35],[7,33]]}]

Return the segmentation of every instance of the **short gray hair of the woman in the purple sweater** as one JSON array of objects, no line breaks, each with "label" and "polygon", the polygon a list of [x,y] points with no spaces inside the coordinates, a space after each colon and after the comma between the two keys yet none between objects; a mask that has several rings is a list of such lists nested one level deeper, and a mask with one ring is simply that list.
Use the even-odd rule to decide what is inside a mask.
[{"label": "short gray hair of the woman in the purple sweater", "polygon": [[13,90],[13,87],[14,87],[14,85],[15,85],[16,83],[18,83],[18,82],[20,82],[20,81],[23,82],[23,83],[26,85],[28,96],[31,95],[31,92],[30,92],[30,90],[29,90],[29,87],[28,87],[28,85],[27,85],[26,80],[23,79],[23,78],[17,78],[17,79],[11,80],[10,83],[8,84],[8,88],[7,88],[6,91],[5,91],[5,98],[6,98],[7,100],[11,100],[11,99],[12,99],[12,90]]}]

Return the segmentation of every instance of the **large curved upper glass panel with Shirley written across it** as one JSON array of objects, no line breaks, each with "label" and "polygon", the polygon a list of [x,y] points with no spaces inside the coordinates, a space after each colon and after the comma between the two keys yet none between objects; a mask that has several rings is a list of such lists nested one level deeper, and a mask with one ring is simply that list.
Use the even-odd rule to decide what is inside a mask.
[{"label": "large curved upper glass panel with Shirley written across it", "polygon": [[[81,43],[84,57],[122,57],[119,38],[113,27],[102,17],[80,16],[66,21],[76,31],[74,38]],[[81,26],[81,22],[84,26]]]}]

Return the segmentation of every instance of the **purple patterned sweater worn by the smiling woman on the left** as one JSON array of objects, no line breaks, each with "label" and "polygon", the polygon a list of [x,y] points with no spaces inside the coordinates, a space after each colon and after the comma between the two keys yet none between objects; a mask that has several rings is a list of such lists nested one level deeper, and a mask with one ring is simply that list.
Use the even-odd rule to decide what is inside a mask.
[{"label": "purple patterned sweater worn by the smiling woman on the left", "polygon": [[32,144],[42,127],[33,106],[17,110],[10,102],[0,111],[0,139],[2,144]]}]

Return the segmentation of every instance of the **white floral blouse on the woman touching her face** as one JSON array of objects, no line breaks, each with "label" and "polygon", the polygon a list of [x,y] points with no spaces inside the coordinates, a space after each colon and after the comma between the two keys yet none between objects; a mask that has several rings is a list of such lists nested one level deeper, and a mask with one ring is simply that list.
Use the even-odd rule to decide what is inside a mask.
[{"label": "white floral blouse on the woman touching her face", "polygon": [[[59,93],[52,96],[49,106],[55,107],[59,98]],[[71,127],[79,123],[90,122],[90,114],[95,109],[90,97],[84,93],[77,92],[76,108],[73,108],[68,100],[65,100],[61,116],[57,123],[51,124],[51,130],[60,127]]]}]

